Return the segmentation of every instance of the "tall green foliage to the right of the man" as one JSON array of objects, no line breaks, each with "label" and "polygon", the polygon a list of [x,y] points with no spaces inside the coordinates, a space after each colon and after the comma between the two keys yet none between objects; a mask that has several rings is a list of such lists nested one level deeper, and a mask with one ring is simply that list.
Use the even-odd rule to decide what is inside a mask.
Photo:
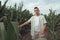
[{"label": "tall green foliage to the right of the man", "polygon": [[55,10],[49,9],[49,11],[50,13],[48,16],[45,15],[47,20],[47,30],[50,32],[49,34],[51,34],[52,40],[57,40],[59,39],[57,32],[60,30],[60,15],[56,15]]}]

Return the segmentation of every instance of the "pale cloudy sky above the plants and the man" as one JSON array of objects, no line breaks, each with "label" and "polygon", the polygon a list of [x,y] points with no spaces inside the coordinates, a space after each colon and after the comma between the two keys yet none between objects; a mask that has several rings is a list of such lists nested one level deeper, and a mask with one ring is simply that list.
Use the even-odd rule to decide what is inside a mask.
[{"label": "pale cloudy sky above the plants and the man", "polygon": [[[6,0],[2,1],[2,5]],[[7,2],[7,6],[14,6],[16,3],[17,6],[19,3],[23,2],[23,10],[27,9],[31,13],[34,13],[34,7],[38,7],[40,9],[40,13],[48,14],[49,9],[56,10],[56,14],[60,13],[60,0],[9,0]]]}]

